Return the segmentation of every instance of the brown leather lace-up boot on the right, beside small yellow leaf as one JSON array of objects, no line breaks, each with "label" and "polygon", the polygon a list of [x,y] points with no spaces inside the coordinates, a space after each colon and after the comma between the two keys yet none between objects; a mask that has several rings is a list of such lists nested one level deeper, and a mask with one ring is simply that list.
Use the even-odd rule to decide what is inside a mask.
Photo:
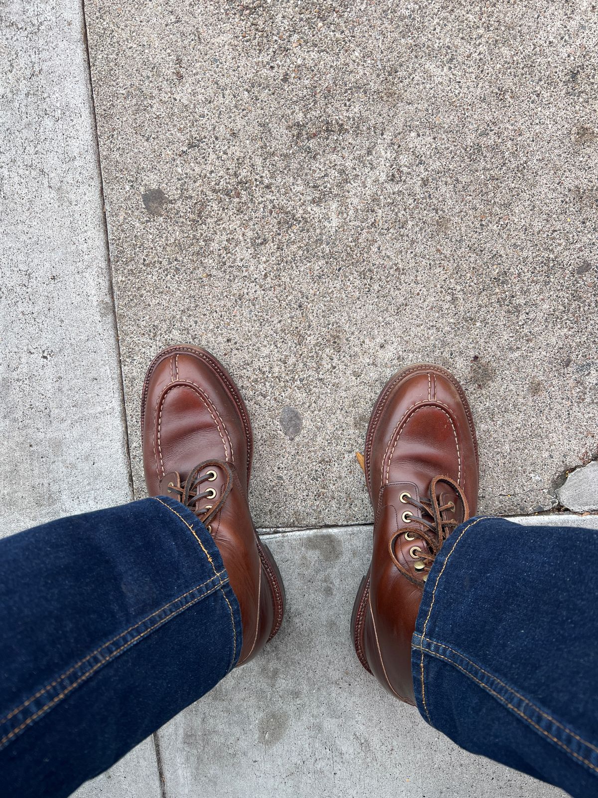
[{"label": "brown leather lace-up boot on the right, beside small yellow leaf", "polygon": [[423,586],[447,536],[478,503],[478,443],[455,378],[425,364],[391,377],[364,454],[374,542],[353,607],[353,641],[364,668],[415,704],[411,637]]}]

